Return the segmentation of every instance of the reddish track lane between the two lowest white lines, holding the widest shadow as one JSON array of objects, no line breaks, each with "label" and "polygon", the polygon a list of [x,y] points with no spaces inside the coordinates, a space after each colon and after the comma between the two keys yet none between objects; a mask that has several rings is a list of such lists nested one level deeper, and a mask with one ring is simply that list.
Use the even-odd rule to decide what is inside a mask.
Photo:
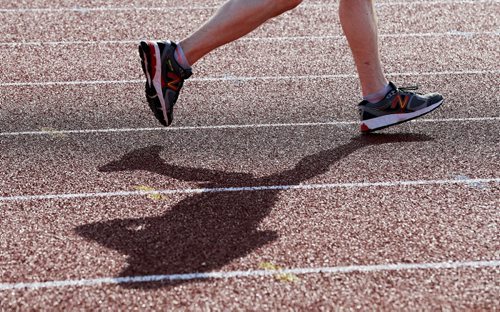
[{"label": "reddish track lane between the two lowest white lines, holding the widest shadow", "polygon": [[[1,281],[255,270],[266,261],[306,268],[494,260],[499,191],[455,185],[7,203],[9,270]],[[123,287],[151,286],[161,287]]]}]

